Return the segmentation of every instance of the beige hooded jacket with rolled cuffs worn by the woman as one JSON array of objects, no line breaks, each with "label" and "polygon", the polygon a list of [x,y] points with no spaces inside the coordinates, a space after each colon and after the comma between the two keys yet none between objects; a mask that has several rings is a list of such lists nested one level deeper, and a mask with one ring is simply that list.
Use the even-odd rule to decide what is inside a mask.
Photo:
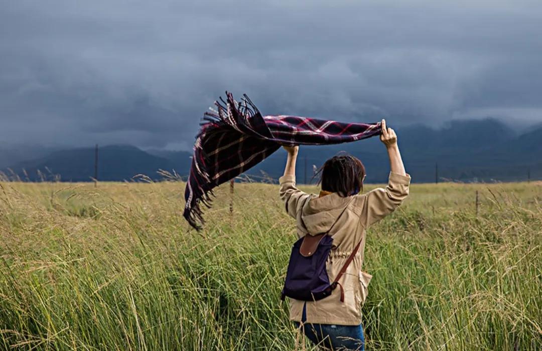
[{"label": "beige hooded jacket with rolled cuffs worn by the woman", "polygon": [[[354,247],[362,241],[354,260],[339,281],[344,288],[344,302],[340,302],[340,288],[333,290],[325,299],[307,302],[307,322],[360,324],[362,304],[372,278],[362,271],[365,230],[403,202],[409,193],[410,175],[390,172],[385,188],[348,197],[337,193],[322,197],[306,194],[295,187],[295,176],[292,175],[280,177],[279,183],[280,197],[286,203],[287,213],[296,219],[299,237],[330,231],[328,234],[333,237],[333,246],[326,263],[330,281],[335,279]],[[300,322],[305,301],[289,300],[290,320]]]}]

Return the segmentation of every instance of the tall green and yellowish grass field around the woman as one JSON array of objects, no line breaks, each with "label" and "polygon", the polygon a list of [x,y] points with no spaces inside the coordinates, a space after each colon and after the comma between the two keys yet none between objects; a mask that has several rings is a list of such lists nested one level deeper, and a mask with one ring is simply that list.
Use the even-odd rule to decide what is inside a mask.
[{"label": "tall green and yellowish grass field around the woman", "polygon": [[[183,193],[0,183],[0,349],[292,350],[278,186],[236,184],[230,215],[225,184],[202,233]],[[367,349],[542,349],[541,202],[540,182],[412,184],[367,233]]]}]

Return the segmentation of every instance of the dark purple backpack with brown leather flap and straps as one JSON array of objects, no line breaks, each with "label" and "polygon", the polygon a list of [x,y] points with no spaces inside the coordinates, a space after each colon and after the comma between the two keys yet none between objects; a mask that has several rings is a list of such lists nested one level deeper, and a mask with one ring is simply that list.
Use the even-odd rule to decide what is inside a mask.
[{"label": "dark purple backpack with brown leather flap and straps", "polygon": [[331,292],[339,286],[340,301],[344,302],[344,289],[339,280],[354,259],[362,242],[356,245],[335,280],[330,282],[326,261],[330,255],[333,238],[327,233],[329,231],[317,235],[306,234],[294,243],[282,289],[282,301],[286,296],[302,301],[318,301],[331,295]]}]

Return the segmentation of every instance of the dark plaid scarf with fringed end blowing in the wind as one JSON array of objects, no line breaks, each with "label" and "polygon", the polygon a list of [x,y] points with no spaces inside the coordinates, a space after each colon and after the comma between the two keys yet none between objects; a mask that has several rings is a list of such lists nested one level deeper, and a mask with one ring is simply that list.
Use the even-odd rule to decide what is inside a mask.
[{"label": "dark plaid scarf with fringed end blowing in the wind", "polygon": [[217,109],[205,112],[193,148],[186,183],[183,216],[193,228],[203,224],[203,203],[211,206],[212,189],[227,182],[281,145],[324,145],[361,140],[380,135],[380,122],[341,123],[298,116],[262,116],[247,95],[240,102],[226,92],[215,101]]}]

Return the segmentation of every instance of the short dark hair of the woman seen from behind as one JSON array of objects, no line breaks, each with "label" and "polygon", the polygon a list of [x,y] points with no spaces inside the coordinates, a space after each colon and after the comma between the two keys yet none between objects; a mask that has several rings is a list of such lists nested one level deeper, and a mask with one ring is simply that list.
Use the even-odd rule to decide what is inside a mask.
[{"label": "short dark hair of the woman seen from behind", "polygon": [[365,166],[352,155],[336,155],[327,160],[314,176],[320,175],[322,190],[346,197],[363,191]]}]

